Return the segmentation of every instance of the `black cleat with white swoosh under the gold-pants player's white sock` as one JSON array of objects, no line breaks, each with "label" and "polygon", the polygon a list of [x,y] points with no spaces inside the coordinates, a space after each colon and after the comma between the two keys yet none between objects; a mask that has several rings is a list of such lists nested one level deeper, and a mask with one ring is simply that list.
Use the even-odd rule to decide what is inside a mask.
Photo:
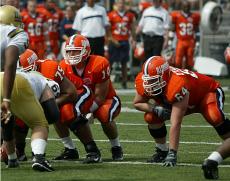
[{"label": "black cleat with white swoosh under the gold-pants player's white sock", "polygon": [[48,160],[45,160],[45,156],[42,154],[37,154],[34,156],[34,161],[32,164],[32,168],[36,171],[40,172],[52,172],[54,169],[50,165]]}]

